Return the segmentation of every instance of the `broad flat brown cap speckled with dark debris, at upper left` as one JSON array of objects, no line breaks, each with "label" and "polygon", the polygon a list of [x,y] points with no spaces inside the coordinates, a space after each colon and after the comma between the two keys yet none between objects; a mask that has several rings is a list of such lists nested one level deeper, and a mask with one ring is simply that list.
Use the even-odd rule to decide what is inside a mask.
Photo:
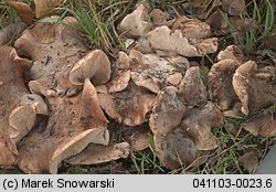
[{"label": "broad flat brown cap speckled with dark debris, at upper left", "polygon": [[[14,43],[18,51],[33,61],[29,78],[35,81],[52,78],[47,87],[55,85],[55,74],[62,71],[63,74],[65,71],[68,73],[88,52],[82,34],[72,28],[55,24],[59,20],[57,17],[51,17],[47,18],[47,22],[36,23],[33,29],[25,30]],[[76,20],[71,17],[63,19],[62,22],[77,26]],[[66,82],[70,83],[67,79]]]}]

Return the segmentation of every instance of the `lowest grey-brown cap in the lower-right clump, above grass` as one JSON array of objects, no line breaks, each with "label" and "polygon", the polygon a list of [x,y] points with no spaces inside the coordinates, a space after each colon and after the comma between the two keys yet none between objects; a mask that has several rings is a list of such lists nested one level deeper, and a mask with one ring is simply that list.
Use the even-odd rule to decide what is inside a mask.
[{"label": "lowest grey-brown cap in the lower-right clump, above grass", "polygon": [[193,140],[179,127],[166,136],[155,136],[155,147],[161,164],[169,169],[176,169],[182,163],[189,166],[201,153]]}]

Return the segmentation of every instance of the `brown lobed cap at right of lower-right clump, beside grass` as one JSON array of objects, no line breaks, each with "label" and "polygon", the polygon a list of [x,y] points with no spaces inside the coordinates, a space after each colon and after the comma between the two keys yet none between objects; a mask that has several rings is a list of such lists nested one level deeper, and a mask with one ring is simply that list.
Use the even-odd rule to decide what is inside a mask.
[{"label": "brown lobed cap at right of lower-right clump, beside grass", "polygon": [[221,111],[212,103],[189,109],[181,122],[182,130],[192,138],[198,150],[212,150],[219,145],[219,139],[212,134],[212,128],[223,124]]}]

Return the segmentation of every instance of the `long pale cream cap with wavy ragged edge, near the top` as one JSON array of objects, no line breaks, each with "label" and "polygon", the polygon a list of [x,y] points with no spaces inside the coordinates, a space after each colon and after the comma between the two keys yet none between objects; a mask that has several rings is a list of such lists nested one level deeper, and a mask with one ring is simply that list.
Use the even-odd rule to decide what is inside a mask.
[{"label": "long pale cream cap with wavy ragged edge, near the top", "polygon": [[155,51],[164,51],[182,56],[203,56],[217,50],[216,39],[193,40],[192,43],[183,36],[181,30],[170,30],[159,26],[148,34],[148,41]]}]

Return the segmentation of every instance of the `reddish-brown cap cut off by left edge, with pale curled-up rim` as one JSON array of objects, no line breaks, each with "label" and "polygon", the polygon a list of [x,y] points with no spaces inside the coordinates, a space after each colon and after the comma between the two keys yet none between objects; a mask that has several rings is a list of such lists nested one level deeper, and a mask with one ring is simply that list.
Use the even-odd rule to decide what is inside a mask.
[{"label": "reddish-brown cap cut off by left edge, with pale curled-up rim", "polygon": [[47,107],[24,84],[31,61],[9,46],[0,46],[0,164],[8,166],[17,163],[15,143],[33,128],[36,114],[47,114]]}]

